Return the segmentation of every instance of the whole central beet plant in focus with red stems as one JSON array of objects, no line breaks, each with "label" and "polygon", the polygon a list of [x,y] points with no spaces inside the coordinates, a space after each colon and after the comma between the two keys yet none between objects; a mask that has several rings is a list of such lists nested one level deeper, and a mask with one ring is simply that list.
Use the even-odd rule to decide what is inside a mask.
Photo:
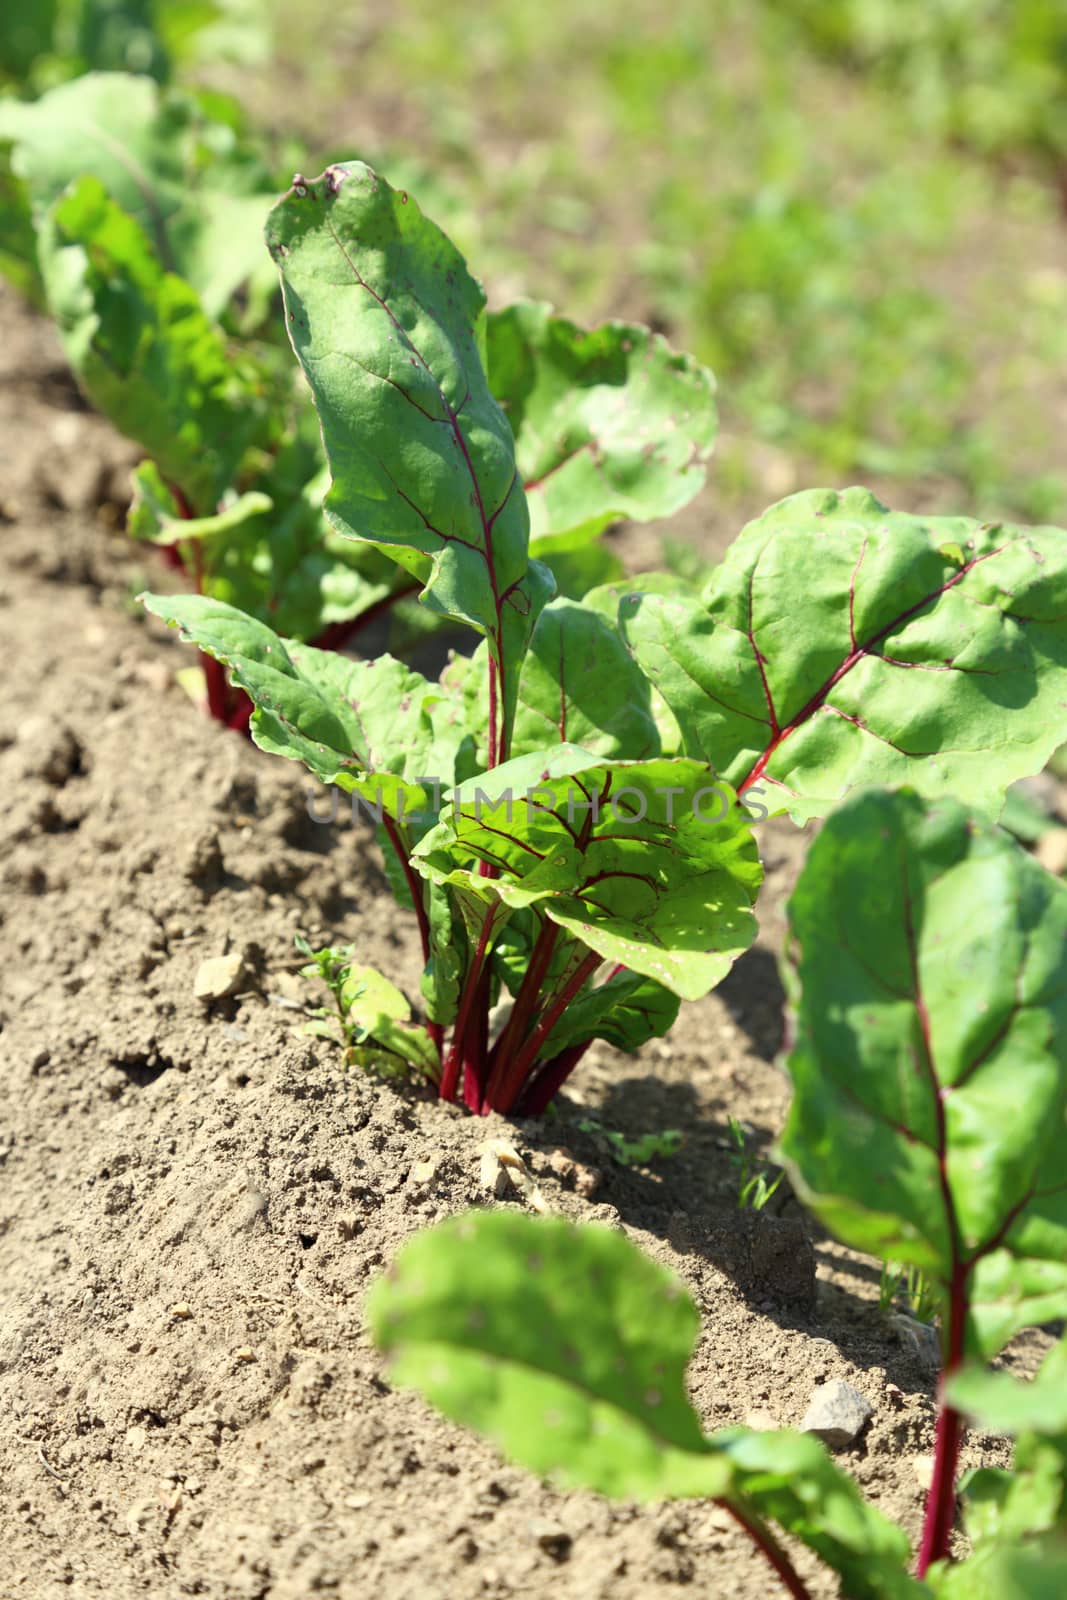
[{"label": "whole central beet plant in focus with red stems", "polygon": [[299,179],[267,238],[333,530],[482,642],[430,682],[208,598],[146,605],[227,667],[262,749],[374,816],[445,1099],[537,1114],[590,1040],[667,1032],[752,942],[755,814],[824,816],[872,782],[995,814],[1067,741],[1057,530],[819,491],[745,528],[699,592],[589,589],[613,518],[669,515],[701,480],[709,374],[646,330],[486,318],[448,238],[360,163]]}]

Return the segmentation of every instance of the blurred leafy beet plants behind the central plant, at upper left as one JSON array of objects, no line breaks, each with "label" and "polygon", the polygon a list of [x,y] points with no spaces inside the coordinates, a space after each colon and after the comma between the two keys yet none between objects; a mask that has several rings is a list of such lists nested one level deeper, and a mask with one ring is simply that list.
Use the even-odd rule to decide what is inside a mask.
[{"label": "blurred leafy beet plants behind the central plant, at upper left", "polygon": [[[304,638],[387,594],[390,563],[325,536],[318,429],[264,272],[277,182],[237,107],[115,72],[0,101],[0,269],[146,451],[130,533],[190,587]],[[213,715],[246,718],[202,664]]]}]

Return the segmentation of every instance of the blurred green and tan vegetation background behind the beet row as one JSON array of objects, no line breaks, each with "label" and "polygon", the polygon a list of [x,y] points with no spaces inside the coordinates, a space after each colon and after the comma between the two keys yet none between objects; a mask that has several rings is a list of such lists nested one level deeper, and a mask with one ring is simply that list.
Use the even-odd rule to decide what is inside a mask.
[{"label": "blurred green and tan vegetation background behind the beet row", "polygon": [[278,174],[370,160],[493,302],[645,320],[705,360],[723,437],[681,531],[715,544],[857,480],[1067,520],[1062,0],[34,0],[3,22],[8,94],[99,67],[234,94]]}]

